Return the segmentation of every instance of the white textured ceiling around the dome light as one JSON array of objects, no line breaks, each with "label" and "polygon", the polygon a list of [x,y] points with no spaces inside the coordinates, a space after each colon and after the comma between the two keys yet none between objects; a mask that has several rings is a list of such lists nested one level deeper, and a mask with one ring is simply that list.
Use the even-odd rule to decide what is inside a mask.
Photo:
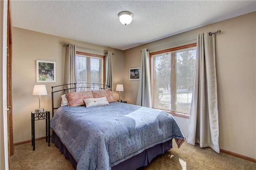
[{"label": "white textured ceiling around the dome light", "polygon": [[[120,50],[256,11],[256,1],[12,0],[11,3],[14,27]],[[132,12],[130,25],[119,22],[118,13],[122,11]]]}]

